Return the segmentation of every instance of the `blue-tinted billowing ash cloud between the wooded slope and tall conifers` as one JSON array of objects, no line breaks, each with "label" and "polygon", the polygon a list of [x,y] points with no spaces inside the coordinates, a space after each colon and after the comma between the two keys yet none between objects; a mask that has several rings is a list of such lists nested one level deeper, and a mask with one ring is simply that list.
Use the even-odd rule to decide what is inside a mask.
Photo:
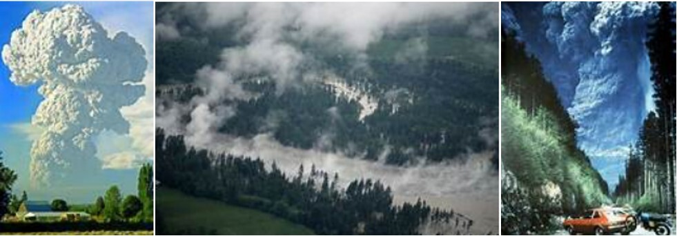
[{"label": "blue-tinted billowing ash cloud between the wooded slope and tall conifers", "polygon": [[[575,86],[560,90],[562,99],[580,124],[581,148],[593,157],[624,157],[654,107],[644,43],[657,10],[649,2],[552,2],[543,8],[545,36],[559,54],[556,64],[569,64],[576,74],[571,78],[572,71],[562,69],[567,67],[545,68],[556,86]],[[617,173],[605,178],[617,179]]]}]

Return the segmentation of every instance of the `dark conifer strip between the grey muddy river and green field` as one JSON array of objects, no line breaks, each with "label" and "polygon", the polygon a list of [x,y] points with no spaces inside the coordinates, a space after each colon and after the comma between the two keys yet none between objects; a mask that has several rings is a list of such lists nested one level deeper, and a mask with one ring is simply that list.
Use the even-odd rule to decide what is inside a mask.
[{"label": "dark conifer strip between the grey muddy river and green field", "polygon": [[272,213],[318,234],[413,235],[431,222],[455,224],[461,233],[473,224],[420,200],[394,206],[390,188],[379,181],[355,180],[342,189],[337,186],[338,175],[314,167],[308,173],[303,166],[297,175],[287,176],[275,164],[266,168],[260,159],[186,147],[183,137],[165,136],[161,129],[155,144],[157,180],[162,185]]}]

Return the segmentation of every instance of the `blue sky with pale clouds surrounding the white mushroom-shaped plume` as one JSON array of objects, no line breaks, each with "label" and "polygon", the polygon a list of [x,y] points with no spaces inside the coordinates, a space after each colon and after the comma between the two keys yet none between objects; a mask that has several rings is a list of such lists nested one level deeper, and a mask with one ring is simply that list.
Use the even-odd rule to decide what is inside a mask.
[{"label": "blue sky with pale clouds surrounding the white mushroom-shaped plume", "polygon": [[[23,19],[33,10],[44,12],[66,3],[68,2],[0,2],[0,16],[2,16],[0,17],[0,46],[8,43],[11,33],[21,26]],[[146,49],[146,59],[149,65],[152,65],[155,17],[152,2],[77,2],[77,5],[83,6],[92,17],[99,21],[108,30],[109,35],[125,31],[135,37]],[[149,66],[148,70],[152,72],[152,67]],[[28,177],[32,143],[30,135],[35,135],[35,133],[30,132],[29,123],[42,97],[37,92],[39,85],[15,86],[9,77],[8,68],[4,63],[0,63],[0,150],[3,151],[4,163],[19,175],[19,180],[14,184],[15,193],[26,190],[29,198],[34,200],[63,197],[71,202],[86,203],[103,195],[106,188],[112,184],[117,184],[125,194],[136,192],[136,169],[106,170],[103,175],[92,177],[95,182],[99,183],[94,186],[74,184],[58,189],[30,187]],[[150,74],[146,77],[152,78],[153,76]],[[153,83],[150,80],[152,79],[144,81],[146,86]],[[149,92],[146,92],[146,95],[148,94]],[[147,112],[148,102],[144,105],[146,105],[144,111]],[[115,138],[124,139],[123,142],[129,139]],[[110,147],[104,148],[104,150],[110,149]]]}]

